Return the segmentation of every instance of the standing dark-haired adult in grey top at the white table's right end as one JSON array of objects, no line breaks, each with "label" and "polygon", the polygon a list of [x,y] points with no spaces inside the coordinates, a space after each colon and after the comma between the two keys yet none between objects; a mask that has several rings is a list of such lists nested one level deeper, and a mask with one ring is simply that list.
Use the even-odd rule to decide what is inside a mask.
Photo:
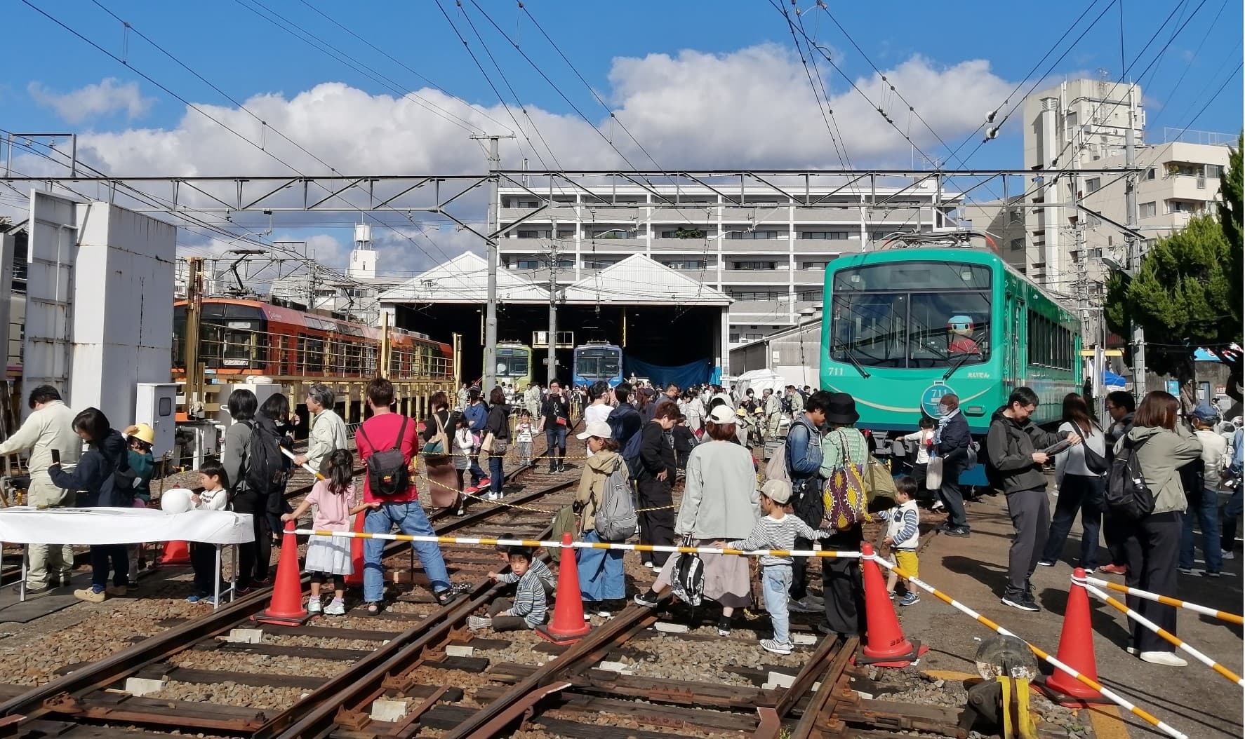
[{"label": "standing dark-haired adult in grey top at the white table's right end", "polygon": [[[268,528],[268,498],[248,481],[253,459],[251,434],[255,433],[255,412],[259,398],[249,389],[229,394],[229,417],[234,423],[225,430],[220,464],[229,478],[229,503],[234,513],[250,514],[255,540],[238,545],[238,583],[235,595],[245,595],[253,586],[269,585],[268,566],[271,559],[271,532]],[[275,427],[274,427],[275,428]]]}]

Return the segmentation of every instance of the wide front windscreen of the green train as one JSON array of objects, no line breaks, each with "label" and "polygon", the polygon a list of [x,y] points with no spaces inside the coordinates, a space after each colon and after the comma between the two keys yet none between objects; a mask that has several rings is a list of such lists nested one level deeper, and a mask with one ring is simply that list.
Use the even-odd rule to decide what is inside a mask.
[{"label": "wide front windscreen of the green train", "polygon": [[832,285],[830,358],[909,370],[985,362],[990,281],[990,267],[955,263],[839,270]]}]

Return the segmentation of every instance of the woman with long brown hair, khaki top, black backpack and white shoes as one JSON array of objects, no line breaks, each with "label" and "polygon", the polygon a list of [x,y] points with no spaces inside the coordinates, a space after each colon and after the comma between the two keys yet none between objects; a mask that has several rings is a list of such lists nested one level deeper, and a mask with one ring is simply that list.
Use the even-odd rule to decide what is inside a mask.
[{"label": "woman with long brown hair, khaki top, black backpack and white shoes", "polygon": [[[1201,444],[1178,423],[1180,402],[1163,391],[1150,391],[1142,399],[1133,417],[1133,428],[1116,443],[1116,468],[1127,465],[1127,455],[1135,455],[1137,468],[1153,496],[1154,509],[1128,523],[1124,550],[1128,554],[1129,587],[1175,597],[1177,566],[1180,556],[1180,530],[1188,501],[1180,484],[1179,468],[1201,457]],[[1112,481],[1112,493],[1119,483]],[[1135,596],[1128,596],[1128,607],[1149,618],[1175,636],[1175,608]],[[1184,667],[1175,647],[1159,634],[1138,623],[1132,625],[1129,653],[1145,662]]]}]

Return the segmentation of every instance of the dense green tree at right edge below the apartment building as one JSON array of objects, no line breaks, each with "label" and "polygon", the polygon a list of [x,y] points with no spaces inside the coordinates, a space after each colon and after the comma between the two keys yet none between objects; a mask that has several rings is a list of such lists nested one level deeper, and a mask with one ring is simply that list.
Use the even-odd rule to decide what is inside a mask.
[{"label": "dense green tree at right edge below the apartment building", "polygon": [[1210,348],[1230,370],[1228,393],[1240,399],[1241,356],[1229,348],[1241,342],[1240,274],[1233,274],[1240,249],[1216,218],[1191,219],[1159,239],[1130,280],[1117,274],[1108,281],[1107,325],[1125,336],[1134,322],[1140,325],[1147,365],[1177,377],[1182,387],[1194,378],[1194,352]]}]

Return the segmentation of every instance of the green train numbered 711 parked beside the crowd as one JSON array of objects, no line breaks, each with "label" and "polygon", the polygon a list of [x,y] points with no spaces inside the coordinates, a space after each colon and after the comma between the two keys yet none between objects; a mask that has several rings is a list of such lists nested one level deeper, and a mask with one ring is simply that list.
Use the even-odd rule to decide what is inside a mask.
[{"label": "green train numbered 711 parked beside the crowd", "polygon": [[844,255],[827,265],[824,305],[822,387],[857,399],[860,428],[911,432],[955,393],[984,435],[1021,386],[1041,398],[1035,422],[1051,423],[1082,386],[1077,316],[991,250]]}]

